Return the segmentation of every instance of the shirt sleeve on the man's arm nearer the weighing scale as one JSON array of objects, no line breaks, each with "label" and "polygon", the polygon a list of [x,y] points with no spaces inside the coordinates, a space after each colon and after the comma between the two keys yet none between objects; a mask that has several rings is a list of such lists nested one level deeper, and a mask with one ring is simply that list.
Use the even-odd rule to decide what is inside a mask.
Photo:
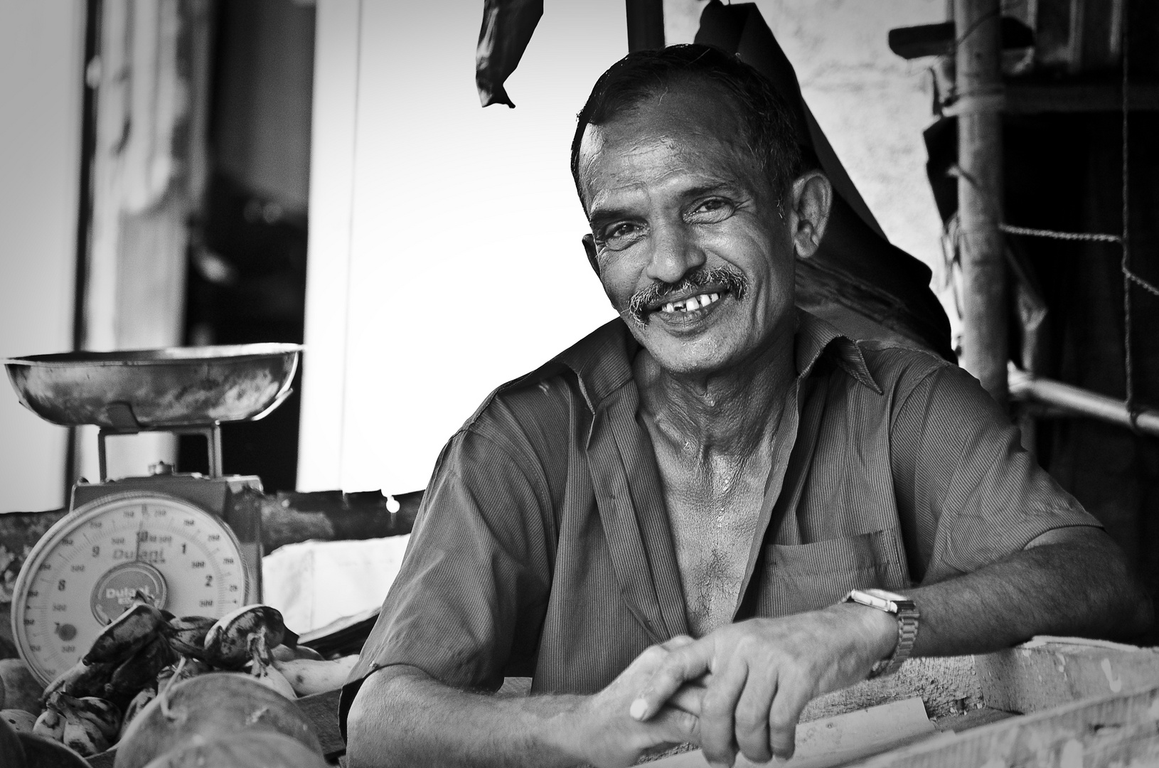
[{"label": "shirt sleeve on the man's arm nearer the weighing scale", "polygon": [[517,446],[465,430],[443,449],[410,543],[342,693],[366,675],[417,667],[449,686],[494,690],[530,675],[546,610],[551,503]]}]

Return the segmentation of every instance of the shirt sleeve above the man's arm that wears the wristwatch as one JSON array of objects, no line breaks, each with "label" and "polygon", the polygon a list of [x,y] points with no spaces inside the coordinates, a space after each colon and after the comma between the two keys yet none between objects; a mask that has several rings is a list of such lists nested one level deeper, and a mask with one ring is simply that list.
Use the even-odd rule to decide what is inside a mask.
[{"label": "shirt sleeve above the man's arm that wears the wristwatch", "polygon": [[[1021,446],[978,381],[938,364],[902,376],[890,429],[898,512],[931,584],[1021,550],[1048,531],[1099,526]],[[911,559],[913,557],[911,556]]]}]

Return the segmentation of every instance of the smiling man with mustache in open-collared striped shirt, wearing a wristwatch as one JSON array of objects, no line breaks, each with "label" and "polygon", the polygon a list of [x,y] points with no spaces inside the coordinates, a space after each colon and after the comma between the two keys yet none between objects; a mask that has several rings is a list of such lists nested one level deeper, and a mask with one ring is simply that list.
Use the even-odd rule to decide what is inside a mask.
[{"label": "smiling man with mustache in open-collared striped shirt, wearing a wristwatch", "polygon": [[[788,758],[811,697],[907,654],[1150,623],[976,381],[795,309],[832,190],[790,137],[712,49],[596,85],[573,170],[621,320],[444,448],[344,690],[351,766]],[[843,601],[872,587],[891,612]]]}]

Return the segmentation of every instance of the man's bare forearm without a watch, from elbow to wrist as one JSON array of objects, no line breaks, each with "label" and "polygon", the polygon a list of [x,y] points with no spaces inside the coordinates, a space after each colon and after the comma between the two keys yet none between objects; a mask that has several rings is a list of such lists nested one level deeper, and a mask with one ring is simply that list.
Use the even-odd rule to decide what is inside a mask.
[{"label": "man's bare forearm without a watch, from elbow to wrist", "polygon": [[498,698],[450,688],[414,667],[387,667],[366,679],[350,708],[348,765],[576,765],[552,734],[578,700]]}]

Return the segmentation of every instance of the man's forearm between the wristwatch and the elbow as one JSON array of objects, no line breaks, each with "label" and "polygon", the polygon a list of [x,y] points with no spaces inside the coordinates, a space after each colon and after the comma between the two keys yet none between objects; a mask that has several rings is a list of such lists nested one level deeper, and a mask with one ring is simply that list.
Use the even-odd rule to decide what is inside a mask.
[{"label": "man's forearm between the wristwatch and the elbow", "polygon": [[1130,638],[1152,621],[1122,553],[1096,531],[909,594],[921,610],[916,656],[994,651],[1034,635]]}]

